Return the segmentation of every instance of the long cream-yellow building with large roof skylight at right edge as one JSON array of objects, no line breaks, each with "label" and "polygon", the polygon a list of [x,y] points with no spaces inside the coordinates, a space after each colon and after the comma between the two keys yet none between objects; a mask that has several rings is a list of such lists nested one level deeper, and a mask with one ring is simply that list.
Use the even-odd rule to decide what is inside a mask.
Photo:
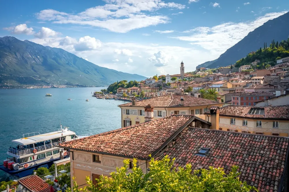
[{"label": "long cream-yellow building with large roof skylight at right edge", "polygon": [[[219,129],[242,133],[255,133],[288,137],[289,105],[237,106],[229,105],[219,110]],[[206,113],[211,122],[210,114]]]}]

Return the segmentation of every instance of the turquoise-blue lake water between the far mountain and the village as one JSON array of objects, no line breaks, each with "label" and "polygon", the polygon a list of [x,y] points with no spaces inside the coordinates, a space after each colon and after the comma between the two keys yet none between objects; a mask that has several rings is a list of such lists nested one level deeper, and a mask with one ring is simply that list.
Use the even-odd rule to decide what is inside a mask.
[{"label": "turquoise-blue lake water between the far mountain and the village", "polygon": [[[92,97],[91,92],[101,89],[105,87],[0,89],[0,163],[11,140],[25,133],[57,131],[60,122],[78,135],[121,128],[117,105],[126,102]],[[45,97],[46,93],[53,96]],[[0,180],[6,176],[0,170]]]}]

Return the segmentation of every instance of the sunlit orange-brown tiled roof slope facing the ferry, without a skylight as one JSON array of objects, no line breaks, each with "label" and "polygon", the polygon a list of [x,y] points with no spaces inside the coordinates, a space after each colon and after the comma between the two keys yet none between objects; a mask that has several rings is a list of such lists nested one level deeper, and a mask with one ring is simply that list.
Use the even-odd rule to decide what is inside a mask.
[{"label": "sunlit orange-brown tiled roof slope facing the ferry, without a skylight", "polygon": [[60,144],[60,146],[149,159],[150,154],[155,152],[192,118],[197,117],[193,115],[171,115],[146,123],[68,141]]}]

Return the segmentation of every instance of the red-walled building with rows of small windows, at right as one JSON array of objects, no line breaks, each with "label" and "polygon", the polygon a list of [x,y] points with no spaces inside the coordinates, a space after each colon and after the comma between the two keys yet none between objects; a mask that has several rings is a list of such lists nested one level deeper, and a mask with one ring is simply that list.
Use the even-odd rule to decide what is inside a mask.
[{"label": "red-walled building with rows of small windows, at right", "polygon": [[274,97],[273,93],[269,92],[249,92],[249,93],[235,93],[231,96],[233,105],[254,106],[255,102],[262,101]]}]

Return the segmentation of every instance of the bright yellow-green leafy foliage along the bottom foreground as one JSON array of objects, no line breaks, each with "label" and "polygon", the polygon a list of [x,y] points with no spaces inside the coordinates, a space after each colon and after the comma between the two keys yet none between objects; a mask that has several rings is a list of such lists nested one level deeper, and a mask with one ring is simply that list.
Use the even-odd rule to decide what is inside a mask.
[{"label": "bright yellow-green leafy foliage along the bottom foreground", "polygon": [[[78,189],[75,177],[73,177],[73,192],[249,192],[256,190],[254,187],[242,183],[238,178],[238,167],[231,168],[229,174],[225,174],[222,168],[210,167],[208,170],[200,169],[191,172],[192,165],[187,164],[185,168],[173,167],[173,159],[164,157],[162,160],[150,161],[147,174],[143,174],[140,167],[136,166],[136,159],[133,161],[132,173],[128,173],[129,160],[124,160],[124,166],[116,168],[110,177],[101,176],[97,185],[93,185],[90,177],[86,177],[88,186]],[[199,175],[201,173],[201,175]],[[66,192],[70,192],[68,188]]]}]

